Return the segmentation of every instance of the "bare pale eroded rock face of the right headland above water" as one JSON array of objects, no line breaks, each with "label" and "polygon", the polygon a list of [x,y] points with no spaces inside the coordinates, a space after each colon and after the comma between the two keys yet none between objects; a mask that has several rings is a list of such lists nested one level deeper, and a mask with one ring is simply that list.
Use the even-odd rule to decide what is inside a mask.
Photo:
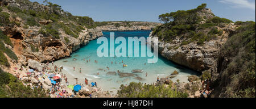
[{"label": "bare pale eroded rock face of the right headland above water", "polygon": [[[187,45],[180,45],[183,39],[176,37],[172,43],[159,41],[159,53],[168,60],[174,61],[177,64],[187,66],[198,72],[210,70],[216,72],[216,59],[219,54],[221,46],[226,42],[230,33],[232,33],[238,26],[230,23],[225,27],[217,27],[223,30],[222,36],[217,36],[217,39],[205,41],[203,45],[197,45],[196,42],[191,42]],[[150,33],[152,36],[152,32]],[[171,49],[170,49],[171,47]]]}]

